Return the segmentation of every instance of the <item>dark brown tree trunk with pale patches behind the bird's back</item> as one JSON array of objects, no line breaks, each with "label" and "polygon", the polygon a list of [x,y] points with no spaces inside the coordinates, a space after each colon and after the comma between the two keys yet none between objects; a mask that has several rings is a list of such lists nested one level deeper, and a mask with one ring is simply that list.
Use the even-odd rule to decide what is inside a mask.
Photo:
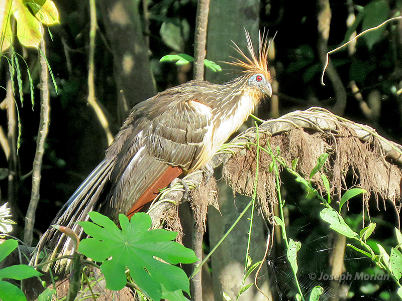
[{"label": "dark brown tree trunk with pale patches behind the bird's back", "polygon": [[139,1],[103,0],[99,6],[113,52],[120,124],[135,104],[156,94],[155,80],[141,28]]}]

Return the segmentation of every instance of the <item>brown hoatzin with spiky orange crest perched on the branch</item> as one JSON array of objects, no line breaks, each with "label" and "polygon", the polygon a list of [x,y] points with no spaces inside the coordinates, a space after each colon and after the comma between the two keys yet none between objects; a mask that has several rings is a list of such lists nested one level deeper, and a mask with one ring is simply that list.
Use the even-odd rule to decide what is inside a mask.
[{"label": "brown hoatzin with spiky orange crest perched on the branch", "polygon": [[[238,78],[222,85],[190,81],[134,106],[105,159],[78,187],[53,224],[69,227],[82,238],[84,233],[76,222],[87,220],[88,212],[100,211],[115,221],[120,213],[130,216],[176,177],[204,167],[264,95],[272,95],[267,38],[260,35],[258,55],[247,31],[246,38],[250,56],[234,43],[242,59],[229,63],[241,68]],[[70,254],[72,242],[49,228],[38,244],[39,250],[43,247],[52,251],[53,258]],[[55,269],[64,264],[57,261]]]}]

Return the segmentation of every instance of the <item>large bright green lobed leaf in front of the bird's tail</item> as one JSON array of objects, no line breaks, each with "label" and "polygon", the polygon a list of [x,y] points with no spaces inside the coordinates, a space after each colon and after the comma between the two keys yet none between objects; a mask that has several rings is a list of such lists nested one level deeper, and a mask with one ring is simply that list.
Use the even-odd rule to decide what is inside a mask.
[{"label": "large bright green lobed leaf in front of the bird's tail", "polygon": [[120,290],[126,285],[125,270],[128,267],[136,284],[154,300],[162,297],[162,286],[164,293],[179,289],[189,292],[186,274],[173,264],[192,263],[197,258],[192,250],[171,241],[176,237],[176,232],[148,230],[152,221],[145,213],[134,214],[130,221],[120,214],[121,230],[100,213],[88,214],[97,225],[79,222],[93,238],[83,239],[78,251],[95,261],[108,259],[102,263],[101,270],[109,289]]}]

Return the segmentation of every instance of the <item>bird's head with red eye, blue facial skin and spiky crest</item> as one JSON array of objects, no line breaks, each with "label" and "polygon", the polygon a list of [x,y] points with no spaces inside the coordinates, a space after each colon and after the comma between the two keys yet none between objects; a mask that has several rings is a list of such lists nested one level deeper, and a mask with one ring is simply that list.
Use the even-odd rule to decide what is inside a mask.
[{"label": "bird's head with red eye, blue facial skin and spiky crest", "polygon": [[258,55],[255,53],[253,43],[250,38],[250,34],[247,30],[247,49],[250,56],[247,56],[240,47],[233,42],[234,49],[241,55],[242,59],[233,58],[233,62],[226,62],[232,66],[240,68],[240,73],[244,74],[246,87],[252,88],[258,94],[265,94],[272,96],[272,77],[268,70],[268,51],[269,42],[267,36],[264,33],[261,36],[259,32],[258,39]]}]

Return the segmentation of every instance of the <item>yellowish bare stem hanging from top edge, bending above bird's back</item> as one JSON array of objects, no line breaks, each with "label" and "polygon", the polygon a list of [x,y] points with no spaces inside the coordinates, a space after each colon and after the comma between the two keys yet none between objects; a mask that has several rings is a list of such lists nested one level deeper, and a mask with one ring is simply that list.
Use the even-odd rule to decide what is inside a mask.
[{"label": "yellowish bare stem hanging from top edge, bending above bird's back", "polygon": [[88,103],[95,111],[96,117],[99,119],[100,124],[104,128],[106,137],[108,138],[108,144],[112,144],[113,135],[109,128],[108,119],[105,113],[100,108],[95,98],[95,81],[94,81],[94,56],[95,56],[95,37],[96,37],[96,6],[95,0],[89,0],[90,11],[90,31],[89,31],[89,63],[88,63]]}]

